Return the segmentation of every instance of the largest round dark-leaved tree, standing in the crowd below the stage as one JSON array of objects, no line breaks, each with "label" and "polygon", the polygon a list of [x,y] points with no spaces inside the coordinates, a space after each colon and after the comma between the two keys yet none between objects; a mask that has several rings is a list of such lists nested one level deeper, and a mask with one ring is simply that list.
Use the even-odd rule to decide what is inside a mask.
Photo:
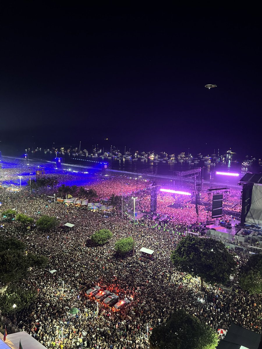
[{"label": "largest round dark-leaved tree, standing in the crowd below the stage", "polygon": [[203,281],[226,282],[236,267],[233,255],[221,241],[191,236],[180,240],[171,260],[182,272],[200,277],[202,288]]}]

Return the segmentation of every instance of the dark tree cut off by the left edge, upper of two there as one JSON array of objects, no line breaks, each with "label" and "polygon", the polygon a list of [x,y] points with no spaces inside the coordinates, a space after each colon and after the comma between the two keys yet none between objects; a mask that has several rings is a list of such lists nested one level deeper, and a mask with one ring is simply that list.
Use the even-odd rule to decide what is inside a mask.
[{"label": "dark tree cut off by the left edge, upper of two there", "polygon": [[47,263],[47,257],[28,253],[26,245],[20,240],[0,237],[0,281],[2,285],[21,280],[29,274],[30,268],[42,268]]}]

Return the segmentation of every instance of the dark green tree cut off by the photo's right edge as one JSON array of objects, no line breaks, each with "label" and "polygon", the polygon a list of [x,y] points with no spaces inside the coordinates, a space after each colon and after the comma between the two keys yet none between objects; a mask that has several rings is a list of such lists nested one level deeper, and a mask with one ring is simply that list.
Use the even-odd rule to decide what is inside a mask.
[{"label": "dark green tree cut off by the photo's right edge", "polygon": [[239,272],[239,286],[252,295],[262,293],[262,255],[252,254]]}]

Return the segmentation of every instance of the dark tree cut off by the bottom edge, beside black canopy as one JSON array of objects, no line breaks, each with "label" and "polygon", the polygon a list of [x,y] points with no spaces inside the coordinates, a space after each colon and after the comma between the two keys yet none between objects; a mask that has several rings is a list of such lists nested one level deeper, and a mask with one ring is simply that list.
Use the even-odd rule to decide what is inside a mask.
[{"label": "dark tree cut off by the bottom edge, beside black canopy", "polygon": [[166,324],[153,328],[149,342],[152,349],[215,349],[218,335],[181,309]]}]

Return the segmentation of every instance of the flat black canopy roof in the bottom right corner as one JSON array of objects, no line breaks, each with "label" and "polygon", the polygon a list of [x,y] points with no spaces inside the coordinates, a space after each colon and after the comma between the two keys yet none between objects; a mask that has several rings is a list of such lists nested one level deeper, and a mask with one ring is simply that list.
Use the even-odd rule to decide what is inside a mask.
[{"label": "flat black canopy roof in the bottom right corner", "polygon": [[261,341],[261,334],[249,329],[231,324],[225,338],[220,341],[217,349],[258,349]]}]

